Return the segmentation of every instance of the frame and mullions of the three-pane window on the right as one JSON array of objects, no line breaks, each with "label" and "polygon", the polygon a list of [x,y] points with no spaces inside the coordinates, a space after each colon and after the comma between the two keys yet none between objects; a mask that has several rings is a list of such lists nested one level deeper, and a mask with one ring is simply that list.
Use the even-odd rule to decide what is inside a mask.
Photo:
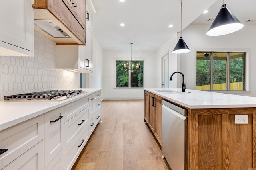
[{"label": "frame and mullions of the three-pane window on the right", "polygon": [[[248,70],[248,51],[213,51],[213,50],[196,50],[195,51],[195,58],[196,58],[196,66],[195,66],[195,72],[197,70],[197,53],[210,53],[210,90],[202,90],[202,91],[211,91],[211,92],[248,92],[248,86],[247,86],[247,70]],[[214,62],[214,53],[227,53],[227,66],[226,66],[226,90],[213,90],[213,62]],[[244,53],[244,61],[243,61],[243,72],[244,72],[244,84],[243,84],[243,89],[244,90],[230,90],[230,85],[231,85],[231,53]],[[197,80],[197,76],[196,76]],[[197,87],[196,81],[195,81],[195,87]]]}]

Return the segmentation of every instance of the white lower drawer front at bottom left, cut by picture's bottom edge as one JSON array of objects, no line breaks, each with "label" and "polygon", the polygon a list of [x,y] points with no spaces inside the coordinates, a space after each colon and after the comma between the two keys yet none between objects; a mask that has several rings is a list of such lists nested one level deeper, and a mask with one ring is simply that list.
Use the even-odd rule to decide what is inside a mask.
[{"label": "white lower drawer front at bottom left, cut by picture's bottom edge", "polygon": [[44,140],[19,156],[1,170],[43,170]]}]

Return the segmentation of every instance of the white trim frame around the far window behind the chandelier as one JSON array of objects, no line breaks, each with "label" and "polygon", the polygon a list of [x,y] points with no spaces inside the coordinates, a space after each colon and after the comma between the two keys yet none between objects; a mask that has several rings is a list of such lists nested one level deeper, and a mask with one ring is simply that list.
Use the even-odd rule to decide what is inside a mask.
[{"label": "white trim frame around the far window behind the chandelier", "polygon": [[138,57],[132,58],[132,61],[143,61],[143,87],[116,87],[116,61],[130,61],[131,59],[128,57],[114,57],[114,90],[142,90],[145,88],[145,78],[146,78],[146,58]]}]

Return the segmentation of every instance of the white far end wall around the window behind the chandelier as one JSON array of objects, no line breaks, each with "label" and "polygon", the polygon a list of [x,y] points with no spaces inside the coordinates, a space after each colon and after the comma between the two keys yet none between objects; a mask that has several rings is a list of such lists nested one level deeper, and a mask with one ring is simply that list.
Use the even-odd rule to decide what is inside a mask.
[{"label": "white far end wall around the window behind the chandelier", "polygon": [[[103,99],[144,99],[144,89],[115,89],[115,59],[131,59],[131,51],[103,51]],[[156,52],[132,51],[132,59],[145,58],[144,88],[156,88]]]}]

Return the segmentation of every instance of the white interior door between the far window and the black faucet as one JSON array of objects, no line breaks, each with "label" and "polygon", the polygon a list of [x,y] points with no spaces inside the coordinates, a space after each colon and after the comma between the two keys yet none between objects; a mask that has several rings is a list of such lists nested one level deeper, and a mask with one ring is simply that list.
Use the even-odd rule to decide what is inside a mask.
[{"label": "white interior door between the far window and the black faucet", "polygon": [[168,53],[162,57],[162,88],[168,88],[169,82],[169,59]]}]

